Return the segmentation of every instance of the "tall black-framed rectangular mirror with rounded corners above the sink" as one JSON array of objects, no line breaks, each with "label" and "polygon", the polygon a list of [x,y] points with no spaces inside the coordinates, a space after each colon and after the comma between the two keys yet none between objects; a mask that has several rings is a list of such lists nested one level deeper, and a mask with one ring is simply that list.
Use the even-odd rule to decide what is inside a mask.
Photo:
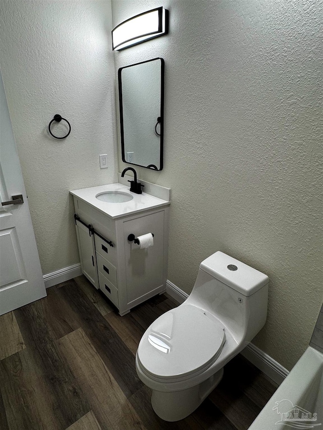
[{"label": "tall black-framed rectangular mirror with rounded corners above the sink", "polygon": [[122,161],[163,169],[163,58],[122,67],[118,71]]}]

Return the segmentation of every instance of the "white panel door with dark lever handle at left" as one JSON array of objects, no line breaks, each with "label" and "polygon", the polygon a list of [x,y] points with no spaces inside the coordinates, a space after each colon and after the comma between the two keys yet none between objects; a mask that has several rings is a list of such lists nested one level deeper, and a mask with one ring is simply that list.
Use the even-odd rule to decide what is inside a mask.
[{"label": "white panel door with dark lever handle at left", "polygon": [[[24,203],[3,206],[12,196]],[[0,73],[0,315],[46,296]]]}]

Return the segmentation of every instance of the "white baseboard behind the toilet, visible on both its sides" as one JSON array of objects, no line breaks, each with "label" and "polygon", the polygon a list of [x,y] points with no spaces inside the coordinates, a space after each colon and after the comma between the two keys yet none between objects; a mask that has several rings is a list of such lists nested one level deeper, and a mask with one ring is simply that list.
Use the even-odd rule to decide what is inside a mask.
[{"label": "white baseboard behind the toilet, visible on both its sides", "polygon": [[[178,303],[183,303],[188,297],[185,291],[181,290],[169,280],[166,282],[166,292]],[[258,367],[262,373],[276,382],[276,384],[280,385],[289,373],[288,370],[274,360],[274,358],[261,351],[261,349],[257,348],[252,343],[249,343],[249,345],[241,351],[241,355]]]}]

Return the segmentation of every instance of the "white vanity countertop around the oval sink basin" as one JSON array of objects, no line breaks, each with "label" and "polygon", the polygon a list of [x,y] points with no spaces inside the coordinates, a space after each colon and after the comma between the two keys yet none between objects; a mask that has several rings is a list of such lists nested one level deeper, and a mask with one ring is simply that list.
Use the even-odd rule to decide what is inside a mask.
[{"label": "white vanity countertop around the oval sink basin", "polygon": [[[102,202],[96,199],[95,196],[98,194],[119,191],[127,194],[131,194],[133,199],[124,203],[108,203]],[[136,194],[130,192],[129,187],[122,185],[121,183],[110,183],[108,185],[101,185],[99,187],[83,188],[81,190],[73,190],[70,193],[93,206],[100,212],[109,215],[111,218],[120,218],[125,215],[129,215],[136,212],[142,212],[146,209],[153,209],[159,206],[167,206],[170,202],[158,197],[151,196],[150,194],[142,193]]]}]

